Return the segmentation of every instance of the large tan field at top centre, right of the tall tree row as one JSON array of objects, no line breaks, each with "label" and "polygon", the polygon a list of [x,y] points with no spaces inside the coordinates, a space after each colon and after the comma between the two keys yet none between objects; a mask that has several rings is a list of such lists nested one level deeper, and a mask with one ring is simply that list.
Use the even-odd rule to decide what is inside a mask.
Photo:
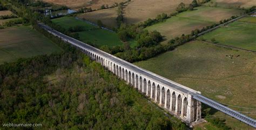
[{"label": "large tan field at top centre, right of the tall tree row", "polygon": [[160,13],[174,12],[181,3],[190,4],[192,0],[132,0],[124,8],[125,22],[136,24],[148,18],[156,18]]}]

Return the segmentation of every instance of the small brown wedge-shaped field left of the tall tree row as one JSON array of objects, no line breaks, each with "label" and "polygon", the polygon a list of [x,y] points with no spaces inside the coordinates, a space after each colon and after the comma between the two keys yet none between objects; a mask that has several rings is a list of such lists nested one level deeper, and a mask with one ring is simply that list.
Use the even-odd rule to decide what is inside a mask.
[{"label": "small brown wedge-shaped field left of the tall tree row", "polygon": [[102,23],[109,28],[117,27],[117,8],[82,13],[78,18],[85,18],[93,23],[97,23],[97,20],[101,20]]}]

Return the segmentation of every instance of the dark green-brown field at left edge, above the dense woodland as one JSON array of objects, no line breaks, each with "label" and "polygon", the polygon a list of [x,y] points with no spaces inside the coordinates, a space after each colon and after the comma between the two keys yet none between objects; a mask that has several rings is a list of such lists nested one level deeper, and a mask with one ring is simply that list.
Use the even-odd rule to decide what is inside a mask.
[{"label": "dark green-brown field at left edge, above the dense woodland", "polygon": [[62,49],[31,26],[16,26],[0,30],[0,64]]}]

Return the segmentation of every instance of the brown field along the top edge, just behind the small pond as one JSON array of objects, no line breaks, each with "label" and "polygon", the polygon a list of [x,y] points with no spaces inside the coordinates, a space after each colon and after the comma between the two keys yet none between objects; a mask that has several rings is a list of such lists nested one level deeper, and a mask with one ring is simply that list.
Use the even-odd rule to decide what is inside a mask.
[{"label": "brown field along the top edge, just behind the small pond", "polygon": [[114,3],[125,2],[126,0],[43,0],[44,2],[66,5],[72,9],[79,9],[84,7],[91,7],[92,9],[99,9],[102,5],[113,5]]}]

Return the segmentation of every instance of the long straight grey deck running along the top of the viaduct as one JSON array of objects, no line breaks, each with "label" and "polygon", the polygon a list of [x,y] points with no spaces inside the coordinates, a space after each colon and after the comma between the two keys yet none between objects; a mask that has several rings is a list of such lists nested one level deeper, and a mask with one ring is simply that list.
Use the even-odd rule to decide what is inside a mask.
[{"label": "long straight grey deck running along the top of the viaduct", "polygon": [[250,117],[247,117],[246,115],[244,114],[241,114],[237,111],[234,111],[232,110],[231,108],[228,108],[224,105],[221,105],[219,104],[218,102],[214,101],[214,100],[211,100],[209,98],[206,98],[204,97],[203,95],[197,93],[196,91],[192,90],[191,88],[187,88],[185,86],[182,86],[182,85],[179,85],[178,83],[175,83],[169,79],[166,79],[164,77],[161,77],[161,76],[158,76],[157,74],[154,74],[152,72],[149,72],[147,70],[144,70],[138,66],[135,66],[125,60],[122,60],[120,58],[117,58],[117,57],[114,57],[112,56],[111,54],[109,53],[106,53],[104,51],[101,51],[99,49],[96,49],[95,47],[92,47],[90,45],[87,45],[83,42],[80,42],[79,40],[77,39],[74,39],[74,38],[71,38],[69,36],[66,36],[64,35],[63,33],[60,33],[56,30],[52,30],[49,26],[46,26],[44,24],[39,24],[43,29],[47,30],[47,31],[50,31],[51,33],[54,33],[56,36],[60,37],[60,38],[63,38],[65,40],[68,40],[69,42],[72,42],[80,47],[84,47],[85,49],[87,50],[90,50],[90,51],[93,51],[99,55],[102,55],[106,58],[109,58],[111,59],[112,61],[115,61],[116,63],[122,65],[122,66],[125,66],[126,68],[130,69],[130,70],[133,70],[134,72],[138,72],[138,73],[142,73],[144,74],[145,76],[147,77],[150,77],[154,80],[157,80],[159,81],[160,83],[163,83],[163,84],[166,84],[168,86],[171,86],[173,88],[175,88],[176,90],[179,90],[181,92],[184,92],[184,93],[190,93],[194,99],[198,100],[198,101],[201,101],[203,102],[204,104],[208,105],[208,106],[211,106],[221,112],[224,112],[228,115],[230,115],[231,117],[234,117],[242,122],[245,122],[246,124],[256,128],[256,120],[250,118]]}]

